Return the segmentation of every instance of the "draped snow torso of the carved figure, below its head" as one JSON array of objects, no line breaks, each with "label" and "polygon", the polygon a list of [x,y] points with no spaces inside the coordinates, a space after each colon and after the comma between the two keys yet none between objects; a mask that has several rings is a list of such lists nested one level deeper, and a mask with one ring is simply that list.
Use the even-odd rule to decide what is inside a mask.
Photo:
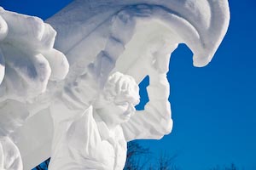
[{"label": "draped snow torso of the carved figure, below its head", "polygon": [[126,156],[122,128],[108,131],[103,122],[96,123],[91,107],[84,114],[67,126],[61,144],[54,147],[49,169],[122,169]]}]

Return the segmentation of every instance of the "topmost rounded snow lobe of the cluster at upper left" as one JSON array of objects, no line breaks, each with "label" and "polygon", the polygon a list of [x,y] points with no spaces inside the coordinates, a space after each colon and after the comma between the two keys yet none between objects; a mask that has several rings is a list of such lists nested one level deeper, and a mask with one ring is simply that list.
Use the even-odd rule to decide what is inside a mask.
[{"label": "topmost rounded snow lobe of the cluster at upper left", "polygon": [[16,45],[21,43],[22,46],[26,45],[36,50],[53,48],[56,32],[43,20],[6,10],[0,11],[0,15],[9,27],[7,42],[16,43]]}]

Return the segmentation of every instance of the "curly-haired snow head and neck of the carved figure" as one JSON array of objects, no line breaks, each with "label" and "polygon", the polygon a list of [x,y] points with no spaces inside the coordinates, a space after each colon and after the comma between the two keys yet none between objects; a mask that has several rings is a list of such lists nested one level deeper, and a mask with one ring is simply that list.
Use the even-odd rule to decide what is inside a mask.
[{"label": "curly-haired snow head and neck of the carved figure", "polygon": [[139,87],[134,78],[115,72],[108,77],[95,108],[108,127],[113,127],[129,121],[139,101]]}]

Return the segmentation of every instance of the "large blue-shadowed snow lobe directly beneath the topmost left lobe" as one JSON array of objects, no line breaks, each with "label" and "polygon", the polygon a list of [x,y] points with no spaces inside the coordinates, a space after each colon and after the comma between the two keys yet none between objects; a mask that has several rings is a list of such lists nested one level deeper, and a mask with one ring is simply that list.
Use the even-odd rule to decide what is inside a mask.
[{"label": "large blue-shadowed snow lobe directly beneath the topmost left lobe", "polygon": [[2,45],[6,63],[6,95],[33,98],[45,91],[50,75],[42,54],[26,54],[9,44]]}]

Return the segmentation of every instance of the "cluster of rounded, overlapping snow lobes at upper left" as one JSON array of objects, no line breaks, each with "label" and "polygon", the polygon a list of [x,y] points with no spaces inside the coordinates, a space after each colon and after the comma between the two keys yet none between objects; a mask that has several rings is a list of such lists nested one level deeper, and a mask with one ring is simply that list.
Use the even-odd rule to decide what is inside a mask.
[{"label": "cluster of rounded, overlapping snow lobes at upper left", "polygon": [[49,81],[67,76],[66,56],[53,46],[56,31],[38,17],[0,7],[0,100],[30,100]]}]

